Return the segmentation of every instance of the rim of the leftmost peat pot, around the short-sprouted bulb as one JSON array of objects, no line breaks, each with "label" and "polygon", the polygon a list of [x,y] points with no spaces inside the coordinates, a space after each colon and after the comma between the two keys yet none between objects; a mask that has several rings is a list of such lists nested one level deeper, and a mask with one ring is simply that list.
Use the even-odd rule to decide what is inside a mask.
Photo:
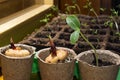
[{"label": "rim of the leftmost peat pot, around the short-sprouted bulb", "polygon": [[6,49],[9,48],[10,45],[4,46],[0,48],[0,55],[3,57],[6,57],[8,59],[29,59],[30,57],[32,57],[35,54],[35,47],[33,46],[29,46],[26,44],[15,44],[15,46],[20,46],[23,47],[25,49],[27,49],[30,52],[30,55],[28,56],[24,56],[24,57],[11,57],[11,56],[6,56],[5,54],[3,54],[2,52],[4,52]]}]

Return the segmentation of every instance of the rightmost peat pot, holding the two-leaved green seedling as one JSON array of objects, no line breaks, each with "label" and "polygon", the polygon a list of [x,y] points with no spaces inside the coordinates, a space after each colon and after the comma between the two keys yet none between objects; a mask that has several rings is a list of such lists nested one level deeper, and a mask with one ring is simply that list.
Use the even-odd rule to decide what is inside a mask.
[{"label": "rightmost peat pot, holding the two-leaved green seedling", "polygon": [[93,50],[78,54],[76,58],[82,80],[116,80],[120,64],[119,55],[109,50],[97,50],[97,53],[101,61],[112,64],[106,66],[92,65]]}]

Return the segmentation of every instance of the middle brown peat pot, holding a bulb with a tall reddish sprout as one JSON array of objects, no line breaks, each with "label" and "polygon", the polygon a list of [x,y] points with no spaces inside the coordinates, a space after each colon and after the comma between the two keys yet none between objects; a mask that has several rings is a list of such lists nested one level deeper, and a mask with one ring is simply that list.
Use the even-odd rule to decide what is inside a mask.
[{"label": "middle brown peat pot, holding a bulb with a tall reddish sprout", "polygon": [[39,59],[40,76],[42,80],[73,80],[75,66],[75,52],[68,48],[57,47],[57,49],[67,50],[72,59],[65,63],[50,64],[44,60],[50,54],[50,48],[45,48],[37,52]]}]

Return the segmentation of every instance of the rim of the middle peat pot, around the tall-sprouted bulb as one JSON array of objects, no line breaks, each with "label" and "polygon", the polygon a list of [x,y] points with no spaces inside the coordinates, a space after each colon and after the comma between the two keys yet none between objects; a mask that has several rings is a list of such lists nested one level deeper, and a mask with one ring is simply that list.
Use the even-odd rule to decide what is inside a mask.
[{"label": "rim of the middle peat pot, around the tall-sprouted bulb", "polygon": [[[61,64],[61,65],[62,65],[62,64],[68,64],[68,63],[71,63],[71,62],[73,62],[73,61],[76,60],[75,57],[77,56],[77,54],[75,53],[74,50],[72,50],[72,49],[70,49],[70,48],[66,48],[66,47],[56,47],[56,48],[57,48],[57,49],[64,49],[64,50],[70,51],[70,52],[72,53],[72,55],[74,56],[74,58],[73,58],[73,60],[70,61],[70,62],[66,62],[66,63],[52,63],[52,65],[55,65],[55,64]],[[44,64],[50,64],[50,65],[51,65],[51,63],[46,63],[43,59],[41,59],[41,58],[39,57],[39,54],[40,54],[41,52],[43,52],[44,50],[46,50],[46,51],[47,51],[47,50],[50,50],[50,47],[39,50],[38,52],[36,52],[35,57],[36,57],[37,59],[39,59],[41,62],[43,62]]]}]

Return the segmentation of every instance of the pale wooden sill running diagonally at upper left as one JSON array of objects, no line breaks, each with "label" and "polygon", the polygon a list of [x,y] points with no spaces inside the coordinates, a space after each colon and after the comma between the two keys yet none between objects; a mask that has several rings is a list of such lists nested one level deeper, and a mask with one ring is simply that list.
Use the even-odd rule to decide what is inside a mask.
[{"label": "pale wooden sill running diagonally at upper left", "polygon": [[26,20],[29,20],[50,7],[52,7],[52,5],[46,4],[40,6],[39,4],[36,4],[13,15],[0,19],[0,34],[14,28]]}]

